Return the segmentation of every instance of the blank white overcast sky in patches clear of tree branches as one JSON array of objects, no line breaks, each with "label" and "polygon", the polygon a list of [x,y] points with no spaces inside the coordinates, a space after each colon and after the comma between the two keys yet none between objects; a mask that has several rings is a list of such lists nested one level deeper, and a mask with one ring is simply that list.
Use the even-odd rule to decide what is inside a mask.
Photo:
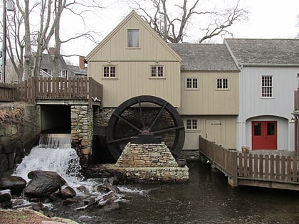
[{"label": "blank white overcast sky in patches clear of tree branches", "polygon": [[[299,0],[242,0],[242,6],[249,11],[248,21],[233,25],[231,32],[235,38],[295,38],[299,33]],[[115,4],[112,9],[105,9],[100,17],[88,18],[88,26],[102,34],[103,37],[98,38],[101,41],[128,13],[130,9],[122,4]],[[71,27],[76,26],[67,24],[65,33],[70,33]],[[95,45],[88,41],[76,41],[63,46],[65,53],[80,55],[88,55],[93,48]],[[77,58],[71,60],[78,63]]]}]

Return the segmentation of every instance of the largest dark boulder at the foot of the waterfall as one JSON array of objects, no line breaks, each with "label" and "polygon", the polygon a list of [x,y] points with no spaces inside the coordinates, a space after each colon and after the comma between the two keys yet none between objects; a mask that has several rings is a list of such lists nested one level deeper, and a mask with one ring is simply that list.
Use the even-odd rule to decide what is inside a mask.
[{"label": "largest dark boulder at the foot of the waterfall", "polygon": [[29,197],[50,196],[65,183],[65,180],[53,171],[31,171],[28,178],[31,178],[31,181],[25,188],[25,194]]}]

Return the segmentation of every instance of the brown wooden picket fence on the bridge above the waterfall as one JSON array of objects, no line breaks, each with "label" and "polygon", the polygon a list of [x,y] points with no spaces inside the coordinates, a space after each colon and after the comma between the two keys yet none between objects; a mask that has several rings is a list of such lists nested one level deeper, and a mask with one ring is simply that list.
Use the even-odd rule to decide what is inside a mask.
[{"label": "brown wooden picket fence on the bridge above the waterfall", "polygon": [[0,86],[0,101],[103,99],[103,87],[93,78],[33,77],[9,87]]}]

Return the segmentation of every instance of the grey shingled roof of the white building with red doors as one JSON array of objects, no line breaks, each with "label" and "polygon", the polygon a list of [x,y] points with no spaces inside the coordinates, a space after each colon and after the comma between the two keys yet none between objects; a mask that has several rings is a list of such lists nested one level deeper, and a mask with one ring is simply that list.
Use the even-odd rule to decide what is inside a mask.
[{"label": "grey shingled roof of the white building with red doors", "polygon": [[299,39],[224,40],[241,65],[299,65]]}]

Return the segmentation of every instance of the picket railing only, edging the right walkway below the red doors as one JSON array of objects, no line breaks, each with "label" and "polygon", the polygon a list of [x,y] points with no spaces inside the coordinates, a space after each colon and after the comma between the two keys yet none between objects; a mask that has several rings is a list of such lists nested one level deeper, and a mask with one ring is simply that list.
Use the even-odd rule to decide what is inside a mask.
[{"label": "picket railing only, edging the right walkway below the red doors", "polygon": [[297,156],[246,154],[199,137],[199,151],[231,178],[299,184]]}]

